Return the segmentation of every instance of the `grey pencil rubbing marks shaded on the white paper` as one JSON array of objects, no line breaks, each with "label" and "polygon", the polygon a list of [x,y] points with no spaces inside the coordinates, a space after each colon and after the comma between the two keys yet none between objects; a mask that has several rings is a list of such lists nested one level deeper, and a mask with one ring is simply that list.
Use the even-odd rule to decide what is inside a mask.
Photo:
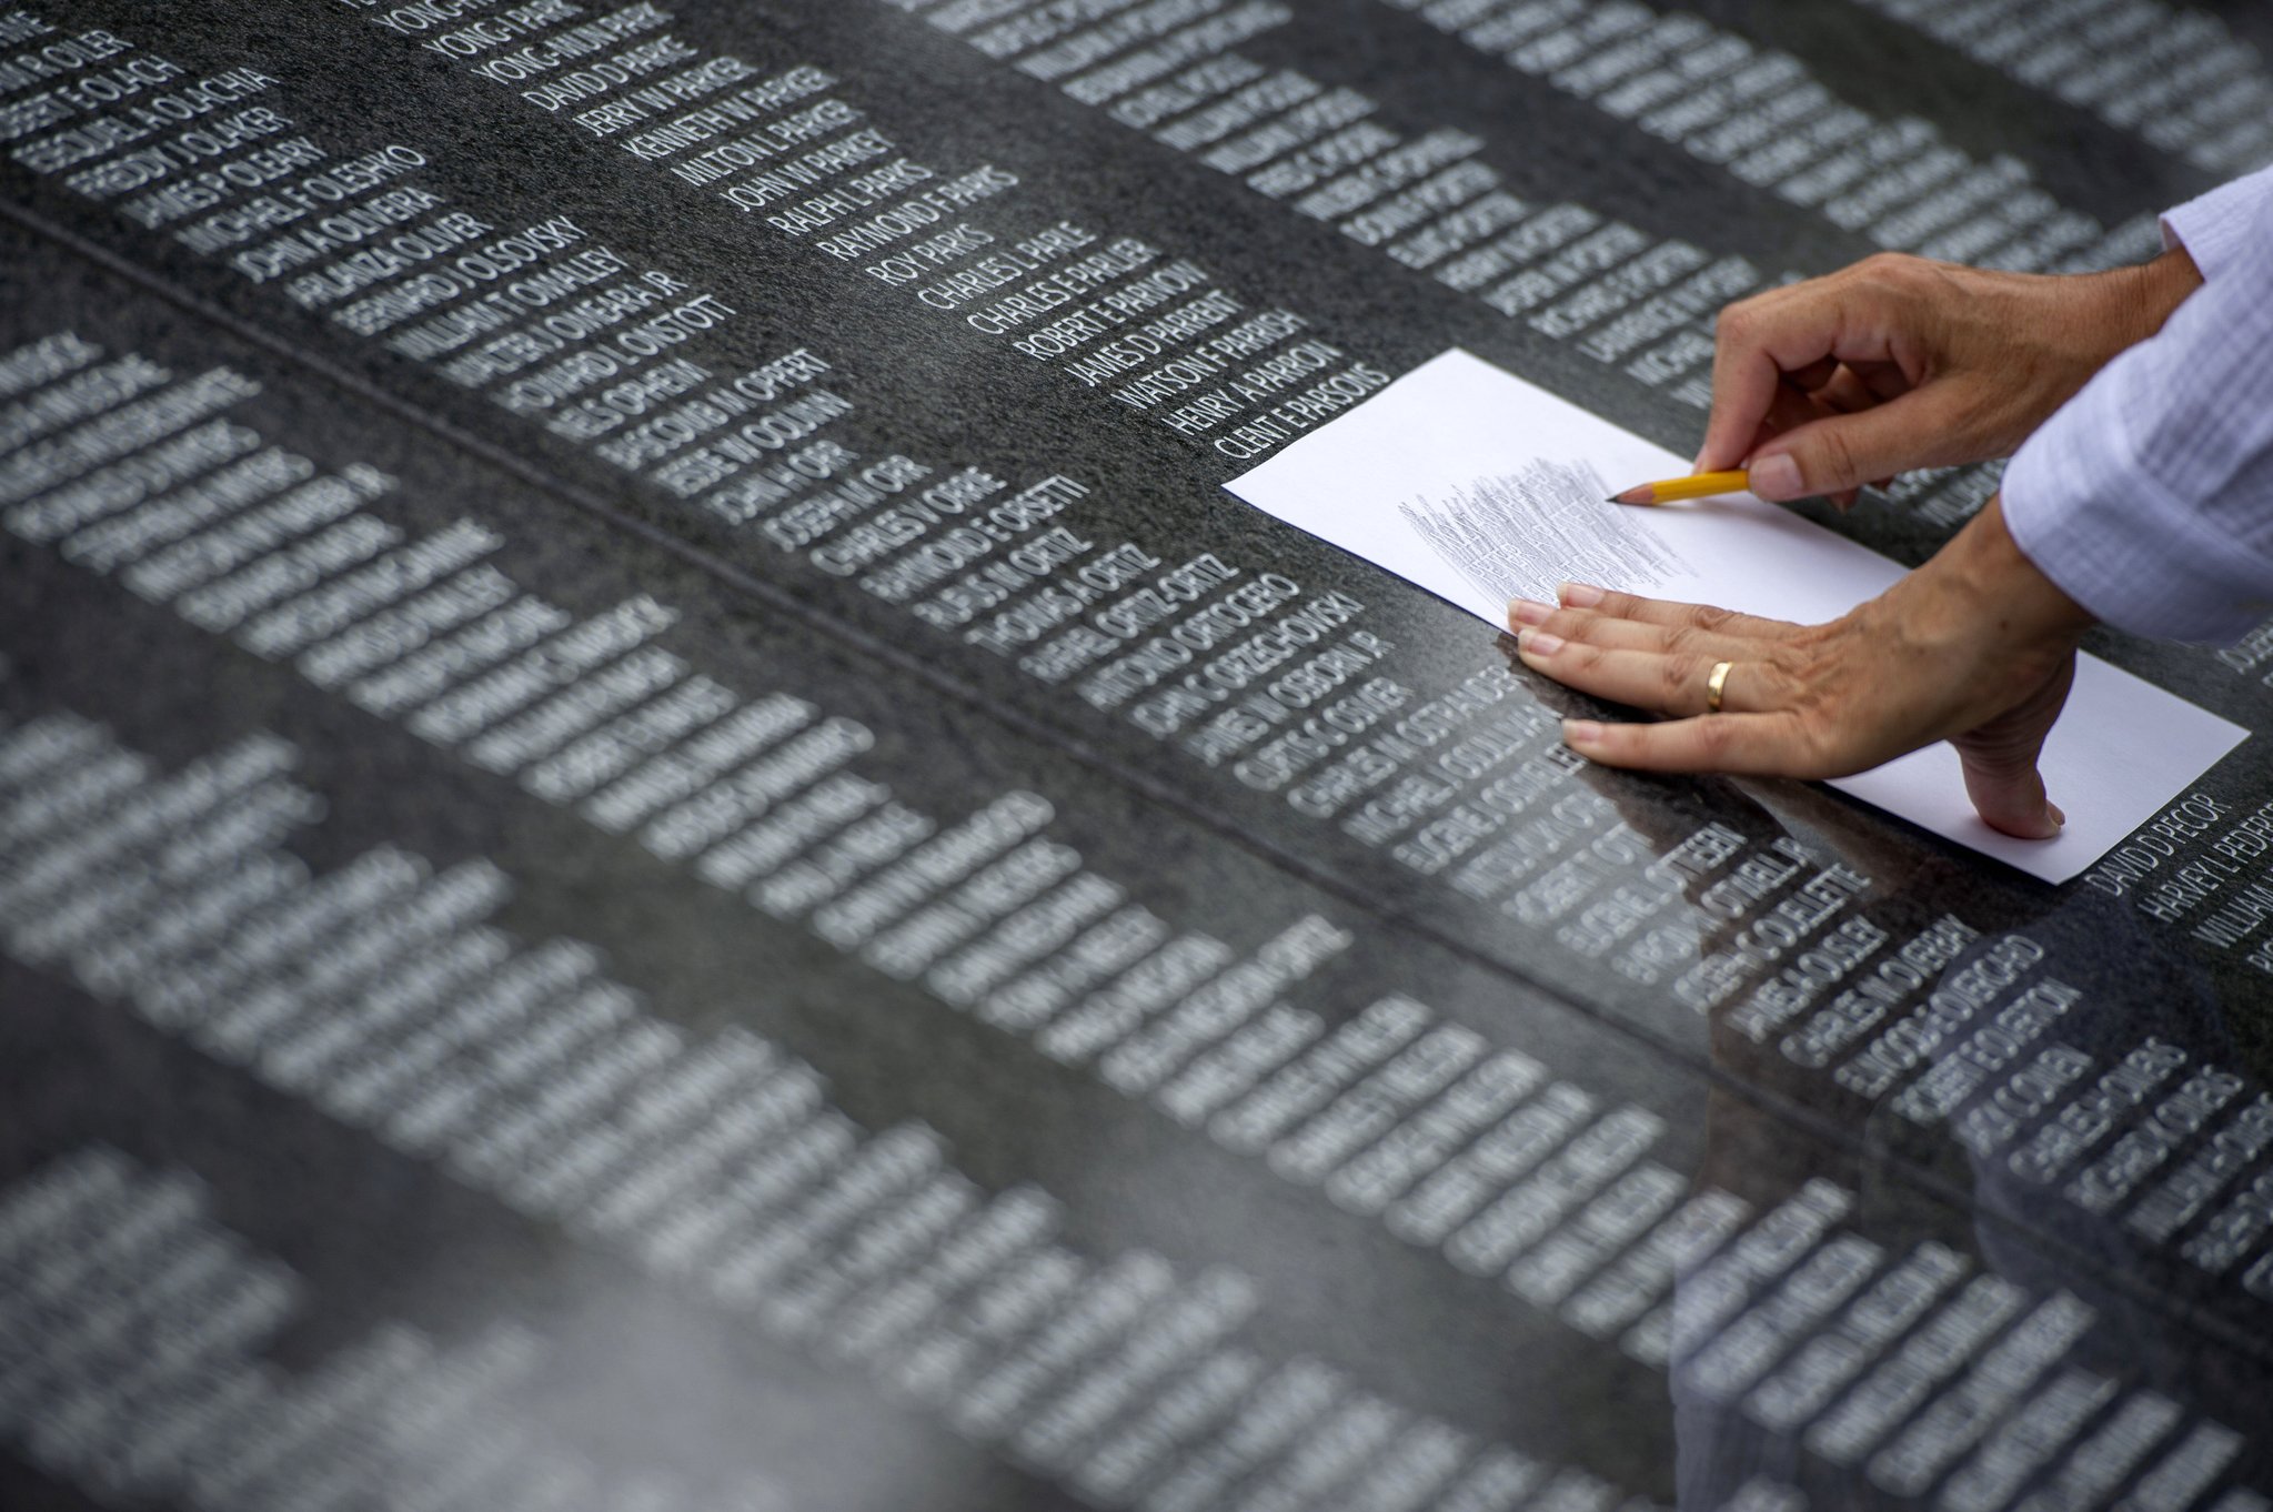
[{"label": "grey pencil rubbing marks shaded on the white paper", "polygon": [[1632,512],[1602,502],[1607,491],[1584,462],[1541,459],[1518,473],[1477,477],[1441,505],[1421,496],[1398,512],[1498,603],[1552,600],[1555,584],[1566,580],[1650,591],[1696,575]]}]

